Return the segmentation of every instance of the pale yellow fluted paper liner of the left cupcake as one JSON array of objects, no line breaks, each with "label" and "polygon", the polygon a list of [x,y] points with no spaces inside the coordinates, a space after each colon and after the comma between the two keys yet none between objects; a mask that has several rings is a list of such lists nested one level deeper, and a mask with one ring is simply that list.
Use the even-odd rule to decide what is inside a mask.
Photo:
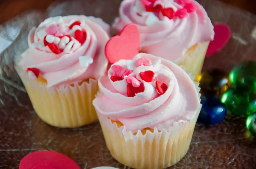
[{"label": "pale yellow fluted paper liner of the left cupcake", "polygon": [[35,112],[47,124],[61,128],[74,128],[98,119],[92,105],[98,91],[97,80],[89,79],[82,84],[49,88],[46,84],[29,79],[28,74],[21,68],[15,69],[26,87]]}]

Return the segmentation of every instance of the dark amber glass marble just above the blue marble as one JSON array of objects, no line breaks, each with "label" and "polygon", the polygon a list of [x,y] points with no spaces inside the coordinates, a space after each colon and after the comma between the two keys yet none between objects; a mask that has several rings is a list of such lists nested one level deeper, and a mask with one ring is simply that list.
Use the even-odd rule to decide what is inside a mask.
[{"label": "dark amber glass marble just above the blue marble", "polygon": [[218,69],[203,72],[195,80],[200,83],[200,93],[204,96],[221,97],[231,85],[229,74]]}]

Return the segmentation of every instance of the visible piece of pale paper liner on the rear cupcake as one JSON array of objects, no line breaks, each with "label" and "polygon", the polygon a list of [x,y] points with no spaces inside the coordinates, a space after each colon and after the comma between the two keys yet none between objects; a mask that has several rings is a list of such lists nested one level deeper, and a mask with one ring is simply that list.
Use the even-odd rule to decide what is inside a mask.
[{"label": "visible piece of pale paper liner on the rear cupcake", "polygon": [[173,61],[177,65],[185,66],[186,70],[192,73],[194,77],[202,71],[204,58],[209,46],[209,42],[198,43],[189,48],[186,54],[179,59]]}]

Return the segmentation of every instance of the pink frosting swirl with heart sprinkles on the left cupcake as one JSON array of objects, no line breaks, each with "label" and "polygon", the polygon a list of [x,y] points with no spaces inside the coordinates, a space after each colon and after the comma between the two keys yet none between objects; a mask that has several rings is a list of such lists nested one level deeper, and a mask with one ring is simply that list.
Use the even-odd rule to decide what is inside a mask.
[{"label": "pink frosting swirl with heart sprinkles on the left cupcake", "polygon": [[109,31],[110,26],[95,17],[48,18],[29,32],[29,48],[19,65],[25,70],[37,69],[47,87],[98,79],[108,65],[104,48]]}]

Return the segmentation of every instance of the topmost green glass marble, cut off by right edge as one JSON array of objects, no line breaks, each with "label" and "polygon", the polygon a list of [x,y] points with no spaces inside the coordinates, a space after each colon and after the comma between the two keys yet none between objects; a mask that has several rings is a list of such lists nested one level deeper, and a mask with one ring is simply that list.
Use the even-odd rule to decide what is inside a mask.
[{"label": "topmost green glass marble, cut off by right edge", "polygon": [[256,91],[256,62],[247,61],[237,65],[230,72],[230,82],[235,87]]}]

